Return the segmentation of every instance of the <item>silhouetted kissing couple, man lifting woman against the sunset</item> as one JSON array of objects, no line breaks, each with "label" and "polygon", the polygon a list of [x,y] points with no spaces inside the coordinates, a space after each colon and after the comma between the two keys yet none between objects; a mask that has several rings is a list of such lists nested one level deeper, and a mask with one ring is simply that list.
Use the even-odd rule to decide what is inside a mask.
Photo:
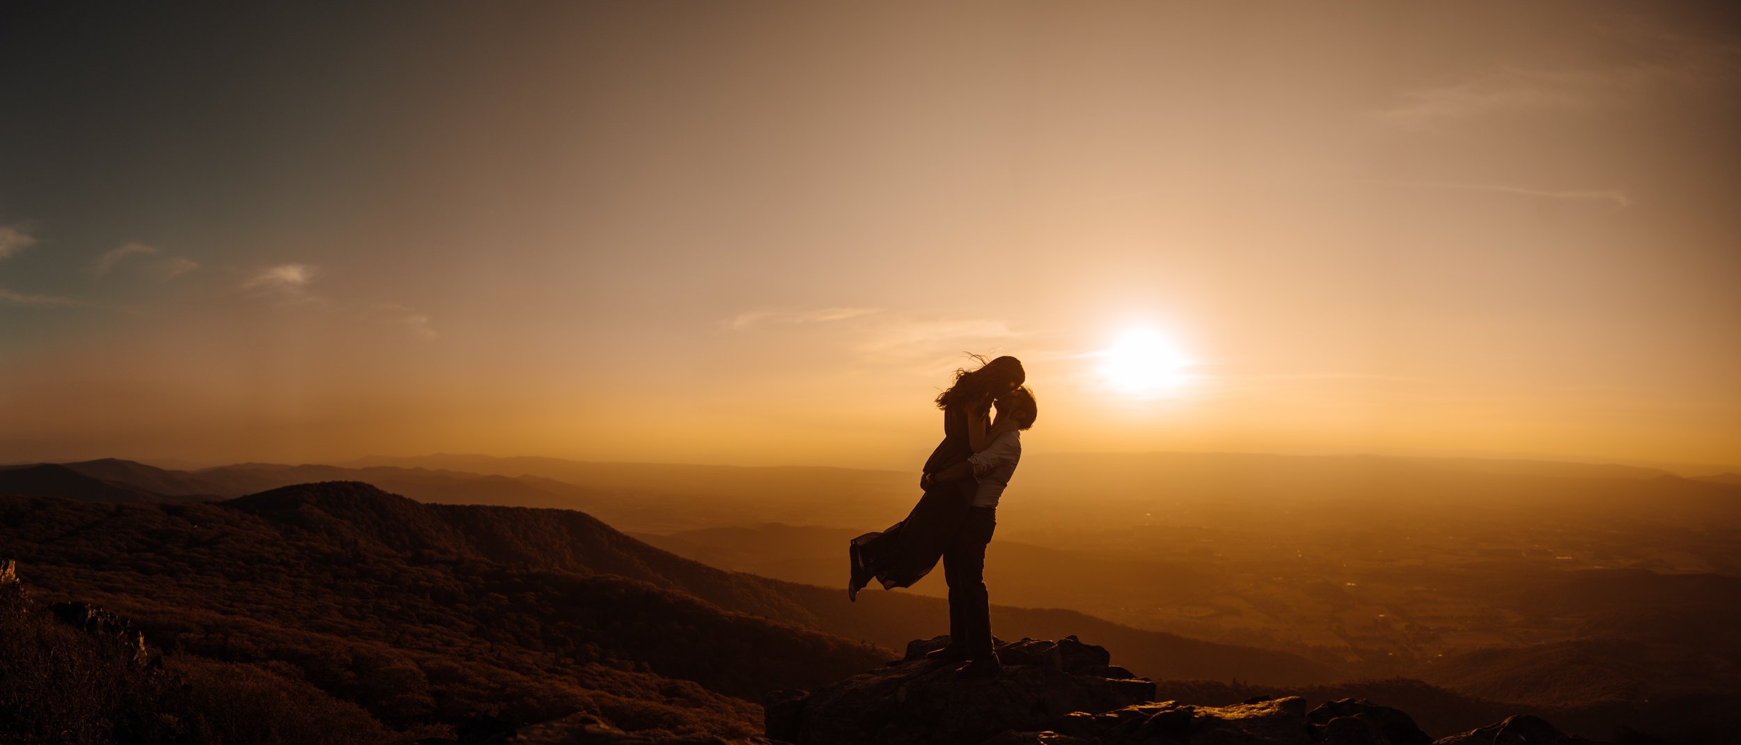
[{"label": "silhouetted kissing couple, man lifting woman against the sunset", "polygon": [[[942,661],[970,661],[963,670],[989,675],[999,670],[992,651],[991,601],[985,594],[985,545],[998,526],[998,498],[1022,458],[1022,430],[1034,426],[1039,407],[1022,386],[1027,372],[1015,357],[998,357],[978,369],[956,371],[956,383],[937,397],[944,409],[944,440],[924,461],[919,487],[924,496],[881,533],[853,538],[846,594],[877,580],[883,588],[912,587],[937,560],[949,581],[949,646],[928,654]],[[991,409],[998,419],[991,421]]]}]

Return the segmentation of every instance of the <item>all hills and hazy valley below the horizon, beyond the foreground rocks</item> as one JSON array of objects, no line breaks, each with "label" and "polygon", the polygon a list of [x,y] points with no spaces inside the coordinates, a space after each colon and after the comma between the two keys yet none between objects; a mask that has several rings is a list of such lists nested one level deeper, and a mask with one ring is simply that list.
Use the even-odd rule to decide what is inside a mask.
[{"label": "all hills and hazy valley below the horizon, beyond the foreground rocks", "polygon": [[[1160,618],[1151,604],[1186,602],[1201,620],[1165,618],[1231,634],[1006,604],[994,607],[1006,639],[1076,634],[1118,649],[1139,675],[1234,681],[1220,695],[1328,691],[1408,670],[1487,700],[1576,708],[1555,721],[1588,726],[1654,721],[1671,705],[1701,710],[1687,701],[1729,701],[1741,689],[1731,634],[1741,625],[1741,550],[1731,540],[1741,489],[1720,477],[1248,454],[1048,456],[1022,468],[999,515],[994,601],[1093,602],[1125,623],[1111,613]],[[94,460],[3,466],[0,494],[19,494],[0,498],[0,559],[21,559],[52,597],[136,614],[172,653],[299,670],[298,681],[400,729],[453,722],[461,710],[531,721],[632,698],[653,701],[649,712],[663,712],[653,719],[672,733],[742,735],[761,686],[804,686],[792,660],[832,672],[874,665],[945,618],[935,597],[870,592],[848,604],[832,587],[843,536],[911,507],[911,477],[895,472],[484,456],[202,470]],[[625,526],[634,538],[618,533]],[[587,606],[622,613],[575,613]],[[1307,613],[1354,646],[1257,635]],[[392,623],[371,627],[381,620]],[[667,644],[656,630],[670,623],[684,637],[742,639],[742,649]],[[1469,639],[1455,644],[1471,651],[1433,656],[1445,639]],[[374,701],[345,682],[369,674],[336,674],[327,667],[338,663],[298,651],[317,648],[409,665],[425,681],[411,684],[423,691],[413,698],[435,703]],[[749,653],[761,648],[775,654]],[[1417,658],[1403,667],[1386,649]],[[449,656],[460,677],[430,672]],[[514,686],[554,693],[486,693],[510,674]],[[642,696],[660,681],[698,693]],[[609,698],[618,689],[635,693]],[[1426,691],[1422,700],[1442,689]],[[1445,710],[1496,710],[1459,707]],[[1429,701],[1410,708],[1436,715]]]}]

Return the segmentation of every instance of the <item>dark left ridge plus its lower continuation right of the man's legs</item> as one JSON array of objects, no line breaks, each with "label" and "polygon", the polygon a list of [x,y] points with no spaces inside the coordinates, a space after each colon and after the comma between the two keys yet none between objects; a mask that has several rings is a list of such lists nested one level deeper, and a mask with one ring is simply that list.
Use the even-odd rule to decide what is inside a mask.
[{"label": "dark left ridge plus its lower continuation right of the man's legs", "polygon": [[[0,496],[0,545],[49,599],[111,607],[171,654],[266,665],[399,729],[592,710],[740,736],[757,708],[733,701],[876,667],[890,639],[947,616],[935,599],[850,606],[844,592],[724,573],[578,512],[423,505],[360,482],[219,503]],[[1071,611],[999,609],[999,623],[1116,639],[1156,675],[1330,674]]]}]

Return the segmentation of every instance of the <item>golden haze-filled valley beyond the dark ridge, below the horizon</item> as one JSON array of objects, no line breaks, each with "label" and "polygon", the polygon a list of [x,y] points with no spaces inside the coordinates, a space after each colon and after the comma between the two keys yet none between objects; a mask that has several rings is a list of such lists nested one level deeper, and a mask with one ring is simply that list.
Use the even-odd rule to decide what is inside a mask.
[{"label": "golden haze-filled valley beyond the dark ridge, below the horizon", "polygon": [[[1052,456],[1024,468],[1025,489],[1012,489],[987,559],[994,632],[1005,637],[1093,635],[1116,648],[1123,665],[1158,681],[1332,686],[1417,679],[1475,700],[1584,710],[1579,717],[1593,722],[1586,724],[1593,736],[1616,724],[1616,712],[1637,719],[1649,701],[1741,700],[1741,646],[1729,634],[1741,621],[1741,487],[1722,479],[1546,461],[1184,453]],[[195,515],[181,510],[209,510],[200,503],[273,489],[284,498],[319,496],[319,510],[331,513],[397,500],[381,494],[350,505],[339,494],[373,487],[296,486],[308,482],[367,482],[432,505],[580,510],[602,520],[597,529],[616,536],[611,543],[698,562],[684,571],[710,571],[705,564],[742,573],[733,576],[783,588],[752,594],[787,599],[778,601],[780,611],[743,606],[719,595],[738,590],[705,581],[677,585],[681,594],[855,639],[870,644],[865,654],[874,656],[872,648],[898,649],[924,635],[944,595],[940,573],[911,592],[872,590],[857,606],[839,590],[846,540],[900,519],[918,491],[911,480],[846,468],[554,458],[366,458],[192,472],[99,460],[5,466],[0,493],[160,500],[186,507],[164,507],[178,512],[153,520],[181,522]],[[1083,498],[1090,484],[1093,500]],[[5,522],[14,547],[30,545],[19,538],[35,520],[23,517],[23,505]],[[26,512],[45,508],[37,501]],[[110,508],[82,510],[96,517]],[[131,515],[110,524],[145,513]],[[423,520],[380,526],[406,519]],[[510,541],[526,540],[524,531],[514,533],[521,538]],[[487,547],[494,540],[465,541]],[[595,543],[588,538],[576,547]],[[548,566],[550,559],[538,557],[552,548],[528,547],[519,559],[491,560]],[[97,580],[110,569],[80,569],[66,550],[54,541],[12,548],[9,557],[57,595],[103,601],[146,621],[169,623],[155,611],[158,604],[186,602],[174,599],[176,590],[160,595],[155,583]],[[421,548],[407,550],[392,547],[397,555],[421,555]],[[681,562],[676,557],[660,560]],[[557,566],[625,571],[575,560]],[[179,571],[204,569],[185,564]],[[646,580],[637,571],[625,576]],[[653,661],[651,670],[695,679],[672,672],[681,665]],[[1596,701],[1605,701],[1605,714],[1588,710]]]}]

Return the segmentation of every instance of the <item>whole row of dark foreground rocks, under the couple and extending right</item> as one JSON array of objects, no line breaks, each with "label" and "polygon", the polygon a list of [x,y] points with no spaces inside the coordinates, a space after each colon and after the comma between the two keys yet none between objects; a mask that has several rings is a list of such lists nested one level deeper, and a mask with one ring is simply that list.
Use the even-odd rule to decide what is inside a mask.
[{"label": "whole row of dark foreground rocks, under the couple and extending right", "polygon": [[1299,696],[1231,707],[1153,701],[1151,681],[1130,677],[1104,648],[1076,637],[999,642],[1003,674],[965,677],[959,663],[924,660],[947,641],[916,641],[900,661],[815,693],[771,695],[768,738],[797,745],[1595,745],[1530,715],[1435,742],[1408,714],[1358,698],[1316,708]]}]

